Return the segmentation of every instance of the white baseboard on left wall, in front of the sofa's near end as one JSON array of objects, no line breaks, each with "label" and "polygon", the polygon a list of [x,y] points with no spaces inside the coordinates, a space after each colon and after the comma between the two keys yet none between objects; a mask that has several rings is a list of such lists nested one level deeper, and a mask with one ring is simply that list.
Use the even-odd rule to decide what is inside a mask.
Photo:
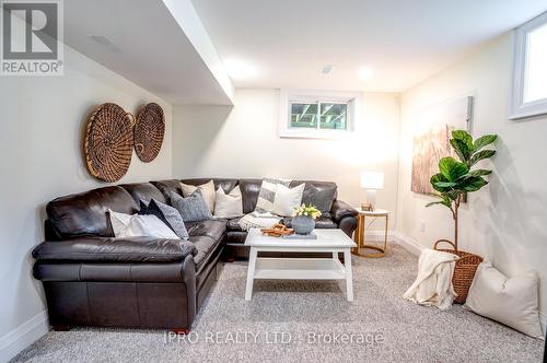
[{"label": "white baseboard on left wall, in front of the sofa's near end", "polygon": [[8,362],[49,331],[46,311],[0,337],[0,362]]}]

